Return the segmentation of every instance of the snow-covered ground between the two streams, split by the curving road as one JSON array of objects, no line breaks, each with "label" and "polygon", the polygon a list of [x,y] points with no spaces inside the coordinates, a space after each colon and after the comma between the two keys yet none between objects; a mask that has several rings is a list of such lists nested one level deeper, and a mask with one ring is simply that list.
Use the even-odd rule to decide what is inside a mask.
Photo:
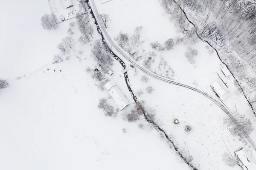
[{"label": "snow-covered ground between the two streams, split by the curving road", "polygon": [[[153,50],[149,45],[151,42],[157,40],[163,43],[168,38],[175,38],[182,34],[177,28],[176,22],[169,20],[169,16],[165,14],[157,0],[148,0],[147,3],[144,3],[143,0],[112,0],[104,4],[96,0],[94,2],[99,13],[110,15],[111,23],[108,27],[108,33],[113,39],[120,31],[131,36],[136,26],[143,26],[141,34],[143,43],[137,48],[143,56]],[[198,55],[194,58],[194,64],[189,63],[184,55],[188,47],[198,51]],[[168,75],[170,78],[205,91],[216,99],[217,97],[212,92],[210,85],[215,81],[221,81],[218,74],[221,75],[227,82],[231,95],[224,101],[224,104],[234,113],[234,116],[236,116],[236,112],[245,114],[247,118],[251,119],[253,125],[256,125],[255,116],[243,94],[234,84],[233,77],[224,77],[221,72],[222,63],[206,43],[199,40],[188,41],[175,45],[173,50],[155,52],[157,56],[150,68],[151,71],[159,74],[157,67],[160,58],[163,57],[167,63],[166,68],[170,67],[174,71],[173,76]],[[138,63],[142,65],[142,61],[143,59]],[[139,75],[136,76],[136,74]],[[240,169],[238,166],[228,167],[222,160],[222,155],[228,152],[223,141],[226,141],[227,145],[238,148],[246,144],[241,142],[241,139],[230,137],[226,123],[227,115],[223,111],[204,96],[174,85],[164,84],[154,79],[150,79],[147,84],[143,85],[140,82],[142,74],[140,72],[136,74],[134,75],[131,71],[128,72],[130,81],[136,82],[133,85],[134,91],[143,90],[143,95],[137,96],[138,99],[144,99],[146,104],[157,110],[156,115],[160,125],[183,150],[187,150],[193,156],[192,163],[196,167],[210,170]],[[163,74],[163,76],[166,75]],[[146,93],[145,88],[147,86],[152,86],[155,89],[152,95]],[[174,125],[174,119],[179,119],[181,123]],[[191,133],[185,132],[185,125],[192,126]],[[255,130],[251,137],[256,141]],[[236,142],[234,143],[234,141]],[[252,150],[252,148],[249,149]],[[201,161],[203,158],[207,159]]]}]

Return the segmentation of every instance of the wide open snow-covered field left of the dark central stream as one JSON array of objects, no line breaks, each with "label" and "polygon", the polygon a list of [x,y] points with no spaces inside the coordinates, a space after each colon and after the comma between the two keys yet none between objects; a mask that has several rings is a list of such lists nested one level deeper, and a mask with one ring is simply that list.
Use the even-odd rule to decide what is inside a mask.
[{"label": "wide open snow-covered field left of the dark central stream", "polygon": [[[26,5],[33,3],[33,8]],[[116,82],[130,102],[116,119],[106,117],[97,107],[108,92],[101,91],[99,82],[86,71],[97,67],[90,57],[93,42],[86,46],[77,42],[64,62],[51,63],[59,53],[56,45],[68,35],[68,24],[74,19],[60,23],[55,31],[45,31],[40,17],[50,13],[47,1],[6,1],[5,5],[23,12],[24,19],[10,22],[14,16],[3,18],[9,25],[1,27],[0,77],[9,79],[10,86],[0,91],[0,169],[189,170],[144,119],[137,123],[122,120],[133,99],[119,62],[114,61],[113,76],[104,75]],[[73,31],[77,39],[80,33],[77,28]],[[96,30],[94,38],[99,38]],[[108,102],[117,108],[112,99]]]}]

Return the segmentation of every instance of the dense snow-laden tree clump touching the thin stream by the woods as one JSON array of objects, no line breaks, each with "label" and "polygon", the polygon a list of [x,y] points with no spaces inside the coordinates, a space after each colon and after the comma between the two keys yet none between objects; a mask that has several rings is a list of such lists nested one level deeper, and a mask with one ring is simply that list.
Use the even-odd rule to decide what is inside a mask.
[{"label": "dense snow-laden tree clump touching the thin stream by the woods", "polygon": [[215,23],[208,23],[199,31],[202,37],[209,38],[220,47],[224,45],[224,36],[220,34]]}]

